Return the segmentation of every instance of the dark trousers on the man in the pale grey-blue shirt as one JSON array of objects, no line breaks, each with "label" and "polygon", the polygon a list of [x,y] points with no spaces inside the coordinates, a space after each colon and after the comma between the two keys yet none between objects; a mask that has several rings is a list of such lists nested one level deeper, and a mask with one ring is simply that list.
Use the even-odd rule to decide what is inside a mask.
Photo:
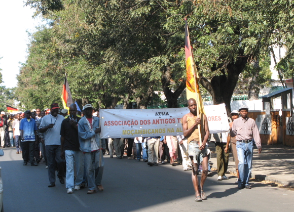
[{"label": "dark trousers on the man in the pale grey-blue shirt", "polygon": [[60,157],[61,148],[60,145],[46,145],[45,149],[48,164],[49,182],[55,183],[55,162],[57,164],[58,178],[64,177],[64,161]]}]

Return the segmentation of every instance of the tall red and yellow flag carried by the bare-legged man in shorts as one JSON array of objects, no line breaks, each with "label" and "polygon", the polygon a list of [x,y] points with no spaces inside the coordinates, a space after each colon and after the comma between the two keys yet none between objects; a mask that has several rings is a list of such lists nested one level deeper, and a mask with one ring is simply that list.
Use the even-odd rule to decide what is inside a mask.
[{"label": "tall red and yellow flag carried by the bare-legged man in shorts", "polygon": [[[185,24],[185,55],[186,55],[186,69],[187,69],[187,80],[186,80],[187,100],[189,100],[190,98],[195,99],[200,113],[205,114],[203,103],[202,103],[202,97],[200,95],[199,85],[198,85],[199,75],[198,75],[198,71],[194,62],[192,48],[190,45],[190,37],[189,37],[187,20]],[[196,88],[196,93],[195,93],[195,88]]]}]

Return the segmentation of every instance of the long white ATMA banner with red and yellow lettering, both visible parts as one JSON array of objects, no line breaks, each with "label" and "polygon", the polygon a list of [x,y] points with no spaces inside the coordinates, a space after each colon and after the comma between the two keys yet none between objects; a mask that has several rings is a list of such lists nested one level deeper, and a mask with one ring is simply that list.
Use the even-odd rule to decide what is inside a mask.
[{"label": "long white ATMA banner with red and yellow lettering, both visible parts", "polygon": [[[225,104],[204,106],[210,133],[229,131]],[[189,108],[101,109],[100,138],[183,135],[181,118]]]}]

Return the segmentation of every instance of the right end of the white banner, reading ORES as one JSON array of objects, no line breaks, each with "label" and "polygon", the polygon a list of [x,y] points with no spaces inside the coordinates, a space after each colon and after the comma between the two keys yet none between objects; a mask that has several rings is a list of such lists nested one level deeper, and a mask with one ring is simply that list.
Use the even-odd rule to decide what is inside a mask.
[{"label": "right end of the white banner, reading ORES", "polygon": [[225,104],[204,106],[209,133],[226,133],[230,130]]}]

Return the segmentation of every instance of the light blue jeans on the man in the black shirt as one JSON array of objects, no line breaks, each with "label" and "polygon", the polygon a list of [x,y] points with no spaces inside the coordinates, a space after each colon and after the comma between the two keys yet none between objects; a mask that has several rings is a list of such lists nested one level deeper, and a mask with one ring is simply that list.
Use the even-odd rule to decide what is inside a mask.
[{"label": "light blue jeans on the man in the black shirt", "polygon": [[[84,157],[83,152],[65,150],[65,161],[66,161],[66,188],[74,188],[76,185],[81,185],[84,177]],[[75,181],[75,170],[73,164],[76,165],[77,177]]]}]

